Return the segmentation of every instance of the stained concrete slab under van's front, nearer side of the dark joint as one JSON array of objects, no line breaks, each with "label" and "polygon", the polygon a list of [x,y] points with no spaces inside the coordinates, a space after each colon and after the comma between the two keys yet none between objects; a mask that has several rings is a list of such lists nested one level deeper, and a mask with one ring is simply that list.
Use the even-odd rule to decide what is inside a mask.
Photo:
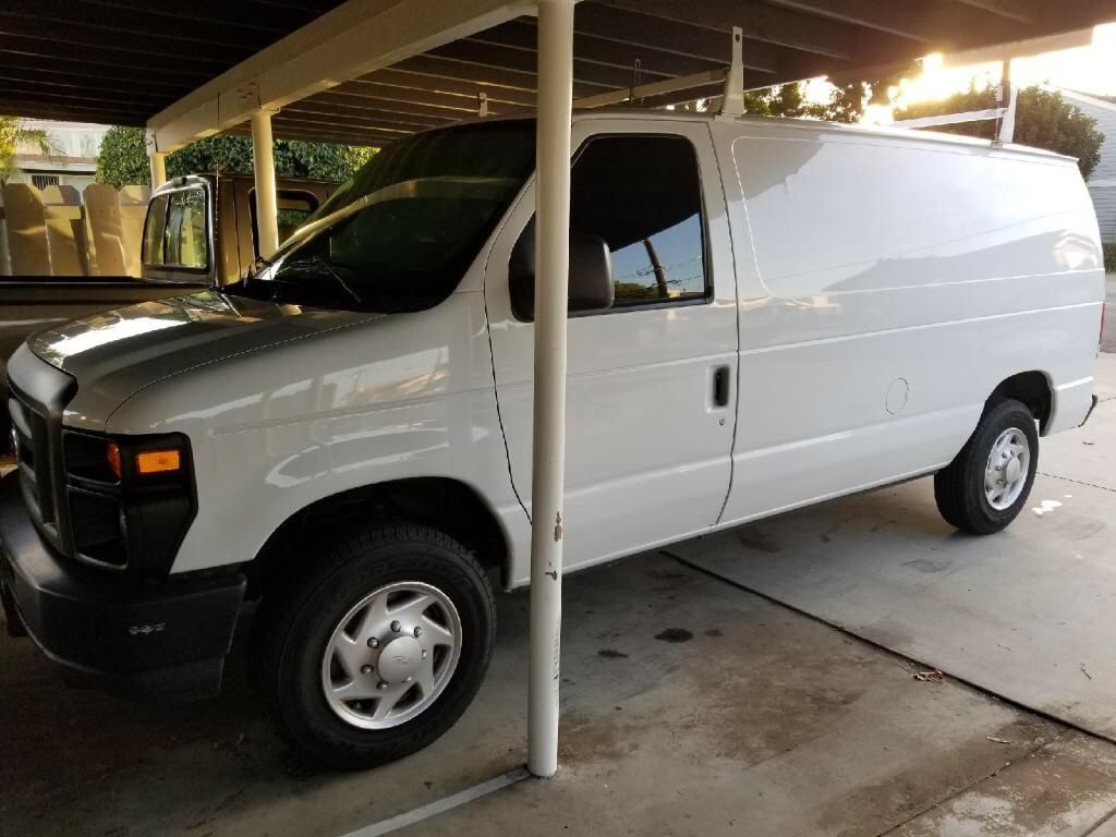
[{"label": "stained concrete slab under van's front, nearer side of the dark joint", "polygon": [[[1116,808],[1116,748],[950,676],[916,680],[925,664],[673,558],[576,576],[566,602],[559,777],[405,834],[920,834],[989,782],[1013,800],[1001,820],[1060,834]],[[66,690],[3,641],[0,833],[339,837],[498,777],[526,757],[527,597],[504,597],[500,620],[462,722],[348,776],[292,760],[237,682],[209,704],[134,706]]]}]

